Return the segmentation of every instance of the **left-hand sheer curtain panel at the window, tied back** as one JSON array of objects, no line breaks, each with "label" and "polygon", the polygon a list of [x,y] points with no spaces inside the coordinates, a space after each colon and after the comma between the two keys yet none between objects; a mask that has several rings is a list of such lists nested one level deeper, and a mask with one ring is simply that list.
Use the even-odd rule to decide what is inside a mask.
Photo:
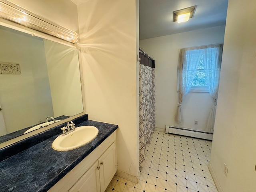
[{"label": "left-hand sheer curtain panel at the window, tied back", "polygon": [[192,85],[196,71],[202,56],[202,49],[187,48],[180,50],[178,65],[178,94],[179,103],[176,110],[175,121],[180,124],[182,119],[181,103],[184,95],[186,95]]}]

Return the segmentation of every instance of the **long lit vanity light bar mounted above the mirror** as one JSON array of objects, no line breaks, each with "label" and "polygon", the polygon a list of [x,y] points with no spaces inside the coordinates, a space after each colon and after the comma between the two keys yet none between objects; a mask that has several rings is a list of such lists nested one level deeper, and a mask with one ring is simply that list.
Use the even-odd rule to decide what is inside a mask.
[{"label": "long lit vanity light bar mounted above the mirror", "polygon": [[0,1],[0,17],[28,28],[56,36],[68,42],[77,42],[78,37],[76,32],[57,24],[51,24],[52,22],[49,22],[45,18],[37,16],[32,12],[29,12],[28,10],[6,0]]}]

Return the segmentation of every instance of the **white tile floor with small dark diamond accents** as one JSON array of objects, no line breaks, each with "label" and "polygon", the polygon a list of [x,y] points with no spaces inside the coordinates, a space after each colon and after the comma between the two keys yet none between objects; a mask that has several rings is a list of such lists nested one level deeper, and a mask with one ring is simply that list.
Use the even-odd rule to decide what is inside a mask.
[{"label": "white tile floor with small dark diamond accents", "polygon": [[207,167],[212,142],[154,131],[140,182],[114,176],[105,192],[218,192]]}]

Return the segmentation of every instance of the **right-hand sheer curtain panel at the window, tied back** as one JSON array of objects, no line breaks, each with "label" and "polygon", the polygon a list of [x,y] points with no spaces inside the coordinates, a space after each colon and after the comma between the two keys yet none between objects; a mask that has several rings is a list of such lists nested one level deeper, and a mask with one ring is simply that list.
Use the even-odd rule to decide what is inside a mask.
[{"label": "right-hand sheer curtain panel at the window, tied back", "polygon": [[210,111],[206,130],[213,133],[218,99],[218,88],[220,81],[220,67],[222,60],[223,44],[206,46],[203,52],[204,72],[207,80],[207,87],[214,101]]}]

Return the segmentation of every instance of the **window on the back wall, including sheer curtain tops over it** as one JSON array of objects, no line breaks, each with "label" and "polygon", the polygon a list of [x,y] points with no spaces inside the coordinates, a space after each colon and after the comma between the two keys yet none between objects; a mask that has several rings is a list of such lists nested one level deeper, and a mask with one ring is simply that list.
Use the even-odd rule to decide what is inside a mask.
[{"label": "window on the back wall, including sheer curtain tops over it", "polygon": [[220,70],[221,52],[220,45],[180,50],[178,84],[182,82],[183,93],[209,92],[208,85],[215,81],[213,78]]}]

